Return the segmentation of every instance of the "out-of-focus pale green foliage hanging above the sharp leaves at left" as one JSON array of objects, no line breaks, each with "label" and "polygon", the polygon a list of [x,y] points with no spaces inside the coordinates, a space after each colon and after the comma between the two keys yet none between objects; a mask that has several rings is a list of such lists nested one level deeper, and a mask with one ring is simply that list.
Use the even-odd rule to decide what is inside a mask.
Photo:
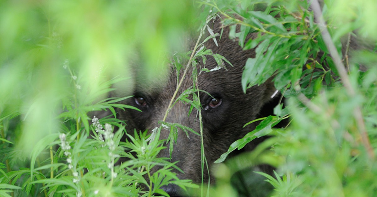
[{"label": "out-of-focus pale green foliage hanging above the sharp leaves at left", "polygon": [[[181,47],[194,13],[191,1],[2,1],[0,120],[21,115],[20,144],[32,150],[59,130],[55,117],[69,110],[61,99],[88,106],[106,98],[98,93],[114,77],[124,78],[115,86],[129,95],[136,51],[145,61],[145,80],[166,75],[164,53]],[[72,86],[80,88],[75,96]],[[92,110],[98,108],[78,113]]]}]

